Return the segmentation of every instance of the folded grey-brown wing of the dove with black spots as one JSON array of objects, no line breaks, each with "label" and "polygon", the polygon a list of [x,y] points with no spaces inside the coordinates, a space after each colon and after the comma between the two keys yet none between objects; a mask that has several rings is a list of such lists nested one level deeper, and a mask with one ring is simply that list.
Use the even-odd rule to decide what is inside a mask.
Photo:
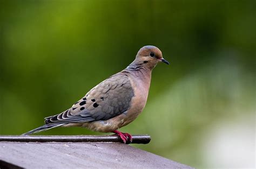
[{"label": "folded grey-brown wing of the dove with black spots", "polygon": [[92,88],[70,109],[58,115],[46,117],[45,124],[107,120],[129,109],[133,96],[129,78],[118,73]]}]

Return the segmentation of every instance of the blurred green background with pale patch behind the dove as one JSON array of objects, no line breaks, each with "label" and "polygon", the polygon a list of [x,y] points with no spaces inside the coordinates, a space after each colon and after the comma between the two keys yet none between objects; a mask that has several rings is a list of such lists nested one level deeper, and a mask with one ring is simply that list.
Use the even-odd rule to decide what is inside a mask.
[{"label": "blurred green background with pale patch behind the dove", "polygon": [[[146,108],[121,129],[193,167],[255,167],[255,1],[0,1],[0,135],[43,124],[158,46]],[[56,128],[40,135],[99,135]]]}]

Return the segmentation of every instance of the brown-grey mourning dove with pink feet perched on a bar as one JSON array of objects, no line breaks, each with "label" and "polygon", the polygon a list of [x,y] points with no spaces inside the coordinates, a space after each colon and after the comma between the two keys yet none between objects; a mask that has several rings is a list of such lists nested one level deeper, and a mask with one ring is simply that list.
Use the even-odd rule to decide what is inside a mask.
[{"label": "brown-grey mourning dove with pink feet perched on a bar", "polygon": [[113,132],[123,143],[132,142],[129,133],[118,131],[143,111],[149,94],[151,72],[158,62],[169,62],[156,46],[144,46],[123,71],[100,82],[60,114],[45,117],[44,125],[23,133],[31,135],[58,126],[80,126],[97,132]]}]

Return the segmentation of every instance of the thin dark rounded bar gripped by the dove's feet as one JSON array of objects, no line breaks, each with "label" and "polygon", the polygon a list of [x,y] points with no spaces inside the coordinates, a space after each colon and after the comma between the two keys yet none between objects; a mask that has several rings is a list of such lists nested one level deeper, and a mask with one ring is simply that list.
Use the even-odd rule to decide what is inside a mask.
[{"label": "thin dark rounded bar gripped by the dove's feet", "polygon": [[[149,135],[133,135],[132,144],[147,144],[150,142]],[[128,139],[129,140],[129,139]],[[123,141],[116,135],[110,136],[0,136],[0,142],[120,142]],[[128,143],[130,144],[130,143]]]}]

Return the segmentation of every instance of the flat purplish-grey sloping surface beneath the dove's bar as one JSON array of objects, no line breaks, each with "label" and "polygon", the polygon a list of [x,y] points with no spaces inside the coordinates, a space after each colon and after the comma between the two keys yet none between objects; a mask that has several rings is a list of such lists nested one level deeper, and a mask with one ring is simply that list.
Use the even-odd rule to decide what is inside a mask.
[{"label": "flat purplish-grey sloping surface beneath the dove's bar", "polygon": [[123,143],[0,142],[0,168],[191,168]]}]

